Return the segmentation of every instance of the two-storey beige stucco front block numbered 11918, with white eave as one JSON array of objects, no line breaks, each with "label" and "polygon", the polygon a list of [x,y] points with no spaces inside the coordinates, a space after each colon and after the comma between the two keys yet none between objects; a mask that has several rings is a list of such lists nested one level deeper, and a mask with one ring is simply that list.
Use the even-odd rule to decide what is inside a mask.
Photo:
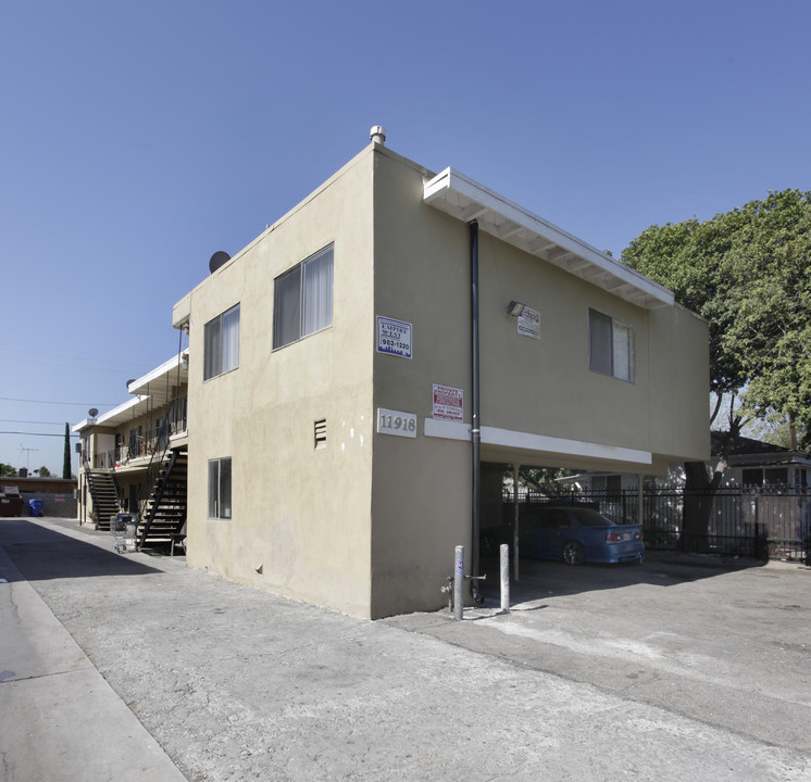
[{"label": "two-storey beige stucco front block numbered 11918, with white eave", "polygon": [[173,315],[192,567],[362,617],[436,609],[474,505],[500,504],[494,465],[709,455],[701,318],[379,135],[211,268]]}]

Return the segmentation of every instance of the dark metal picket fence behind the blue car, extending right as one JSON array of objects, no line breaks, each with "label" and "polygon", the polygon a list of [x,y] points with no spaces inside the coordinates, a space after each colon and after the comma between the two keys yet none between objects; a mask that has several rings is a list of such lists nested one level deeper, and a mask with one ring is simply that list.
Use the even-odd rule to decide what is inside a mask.
[{"label": "dark metal picket fence behind the blue car, extending right", "polygon": [[[507,503],[509,496],[504,496]],[[534,503],[584,503],[619,524],[639,524],[636,489],[525,495]],[[645,487],[641,525],[651,550],[759,558],[811,557],[811,489],[806,487]]]}]

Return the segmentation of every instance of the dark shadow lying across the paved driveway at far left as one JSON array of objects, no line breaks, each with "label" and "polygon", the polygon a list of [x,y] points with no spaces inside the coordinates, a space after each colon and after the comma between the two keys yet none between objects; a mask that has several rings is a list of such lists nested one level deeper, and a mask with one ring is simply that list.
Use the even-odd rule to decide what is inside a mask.
[{"label": "dark shadow lying across the paved driveway at far left", "polygon": [[93,543],[85,543],[24,518],[0,519],[0,548],[16,566],[5,567],[3,557],[0,557],[0,578],[7,581],[20,580],[20,573],[27,581],[48,581],[162,572]]}]

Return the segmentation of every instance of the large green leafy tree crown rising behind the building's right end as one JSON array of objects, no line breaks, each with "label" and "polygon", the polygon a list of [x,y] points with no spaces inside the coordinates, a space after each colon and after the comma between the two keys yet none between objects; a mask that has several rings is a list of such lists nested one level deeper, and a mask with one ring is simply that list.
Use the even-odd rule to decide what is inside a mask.
[{"label": "large green leafy tree crown rising behind the building's right end", "polygon": [[731,431],[775,414],[811,431],[811,192],[651,226],[622,260],[708,320],[710,391],[743,400]]}]

